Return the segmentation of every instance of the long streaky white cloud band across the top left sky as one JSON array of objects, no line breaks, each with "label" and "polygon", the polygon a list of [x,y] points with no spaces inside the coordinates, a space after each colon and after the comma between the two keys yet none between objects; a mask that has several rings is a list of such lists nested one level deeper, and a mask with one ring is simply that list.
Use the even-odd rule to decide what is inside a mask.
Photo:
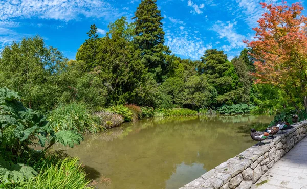
[{"label": "long streaky white cloud band across the top left sky", "polygon": [[14,0],[0,1],[0,20],[43,18],[69,21],[85,17],[113,19],[118,13],[105,0]]}]

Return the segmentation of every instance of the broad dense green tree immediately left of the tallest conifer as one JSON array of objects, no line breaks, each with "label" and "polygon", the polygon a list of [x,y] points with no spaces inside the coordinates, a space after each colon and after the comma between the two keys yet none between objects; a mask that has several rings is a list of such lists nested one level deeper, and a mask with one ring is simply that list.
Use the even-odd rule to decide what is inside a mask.
[{"label": "broad dense green tree immediately left of the tallest conifer", "polygon": [[137,88],[144,82],[146,69],[141,63],[141,52],[131,39],[131,27],[122,17],[109,25],[107,36],[100,40],[96,72],[111,91],[108,104],[130,103],[138,95]]}]

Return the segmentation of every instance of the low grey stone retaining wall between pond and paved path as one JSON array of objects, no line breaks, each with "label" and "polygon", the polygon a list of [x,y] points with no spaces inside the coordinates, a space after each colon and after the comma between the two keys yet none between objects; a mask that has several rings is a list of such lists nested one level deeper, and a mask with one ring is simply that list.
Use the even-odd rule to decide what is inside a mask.
[{"label": "low grey stone retaining wall between pond and paved path", "polygon": [[307,121],[292,126],[293,129],[283,133],[279,131],[274,139],[264,140],[264,145],[248,148],[180,189],[251,188],[253,183],[306,136]]}]

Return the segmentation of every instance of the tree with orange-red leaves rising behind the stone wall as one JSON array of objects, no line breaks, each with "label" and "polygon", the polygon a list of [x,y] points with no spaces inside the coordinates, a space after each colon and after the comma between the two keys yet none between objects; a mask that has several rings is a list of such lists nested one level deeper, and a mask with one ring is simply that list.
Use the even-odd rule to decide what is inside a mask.
[{"label": "tree with orange-red leaves rising behind the stone wall", "polygon": [[244,41],[253,49],[256,83],[270,83],[294,99],[307,111],[307,18],[300,3],[288,6],[261,3],[266,13],[258,20],[254,41]]}]

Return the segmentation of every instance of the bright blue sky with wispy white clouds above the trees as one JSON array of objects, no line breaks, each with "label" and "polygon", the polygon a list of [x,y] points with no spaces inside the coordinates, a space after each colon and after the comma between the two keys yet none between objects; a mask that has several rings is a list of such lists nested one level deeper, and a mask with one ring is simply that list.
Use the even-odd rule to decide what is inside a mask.
[{"label": "bright blue sky with wispy white clouds above the trees", "polygon": [[[105,36],[121,16],[129,21],[141,0],[0,0],[0,49],[13,40],[40,35],[47,45],[74,59],[91,24]],[[257,0],[158,0],[165,44],[172,53],[193,60],[206,49],[224,50],[229,59],[252,40],[253,27],[265,11]],[[272,2],[272,0],[266,0]],[[274,1],[274,2],[280,2]],[[294,3],[295,1],[288,1]],[[302,2],[304,7],[307,4]],[[305,11],[303,12],[305,15]]]}]

